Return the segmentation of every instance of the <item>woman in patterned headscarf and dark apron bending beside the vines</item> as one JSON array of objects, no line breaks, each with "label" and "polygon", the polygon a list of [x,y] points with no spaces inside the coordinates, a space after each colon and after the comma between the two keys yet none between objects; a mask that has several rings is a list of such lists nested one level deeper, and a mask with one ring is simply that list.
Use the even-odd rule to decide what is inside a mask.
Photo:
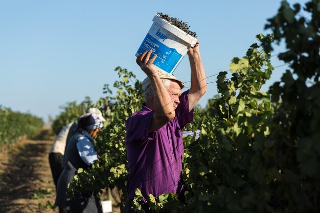
[{"label": "woman in patterned headscarf and dark apron bending beside the vines", "polygon": [[98,159],[94,139],[103,127],[103,121],[96,114],[86,113],[79,117],[78,126],[78,131],[65,150],[64,169],[58,180],[55,205],[59,206],[60,213],[102,213],[98,193],[81,192],[75,198],[68,198],[65,194],[77,170],[87,169]]}]

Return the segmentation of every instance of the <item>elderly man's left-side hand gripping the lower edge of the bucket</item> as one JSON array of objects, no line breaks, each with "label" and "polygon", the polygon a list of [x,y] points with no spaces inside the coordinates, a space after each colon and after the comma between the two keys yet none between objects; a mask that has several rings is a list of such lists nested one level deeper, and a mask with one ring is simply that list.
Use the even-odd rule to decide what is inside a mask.
[{"label": "elderly man's left-side hand gripping the lower edge of the bucket", "polygon": [[153,65],[154,60],[156,59],[156,54],[149,60],[152,51],[146,51],[144,53],[140,53],[138,57],[136,57],[136,63],[140,66],[140,68],[147,74],[147,76],[152,76],[157,74],[157,70],[155,65]]}]

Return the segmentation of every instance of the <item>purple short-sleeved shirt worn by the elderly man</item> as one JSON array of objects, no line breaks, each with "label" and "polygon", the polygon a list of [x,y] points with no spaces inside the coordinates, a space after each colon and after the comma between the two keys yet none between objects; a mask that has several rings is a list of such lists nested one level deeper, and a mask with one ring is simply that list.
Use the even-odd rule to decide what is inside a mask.
[{"label": "purple short-sleeved shirt worn by the elderly man", "polygon": [[181,156],[184,154],[181,130],[193,121],[188,91],[179,97],[174,119],[154,132],[148,133],[154,110],[145,105],[126,121],[129,198],[134,198],[136,188],[140,188],[145,198],[149,194],[158,197],[163,193],[180,193]]}]

